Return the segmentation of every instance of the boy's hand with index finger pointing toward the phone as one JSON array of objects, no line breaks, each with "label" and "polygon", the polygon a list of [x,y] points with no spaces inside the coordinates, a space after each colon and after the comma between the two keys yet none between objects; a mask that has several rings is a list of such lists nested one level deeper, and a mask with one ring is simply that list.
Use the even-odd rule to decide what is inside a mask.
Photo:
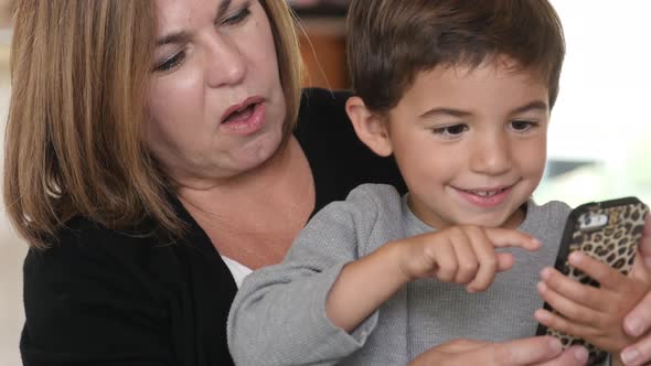
[{"label": "boy's hand with index finger pointing toward the phone", "polygon": [[469,292],[485,290],[495,272],[513,266],[513,256],[495,248],[536,250],[541,243],[522,232],[478,226],[451,226],[405,239],[399,267],[408,280],[434,277],[467,284]]}]

